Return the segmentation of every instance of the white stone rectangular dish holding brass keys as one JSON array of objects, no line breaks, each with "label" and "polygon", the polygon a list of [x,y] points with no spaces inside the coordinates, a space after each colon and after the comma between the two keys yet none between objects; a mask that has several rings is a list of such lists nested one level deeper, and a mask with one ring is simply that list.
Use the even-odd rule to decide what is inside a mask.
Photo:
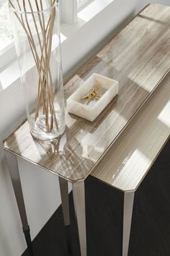
[{"label": "white stone rectangular dish holding brass keys", "polygon": [[[93,88],[97,89],[102,97],[98,101],[94,100],[87,104],[86,99],[82,100],[81,98],[91,92]],[[96,73],[91,74],[91,77],[67,99],[68,112],[89,121],[94,121],[117,95],[118,88],[119,82],[117,80]]]}]

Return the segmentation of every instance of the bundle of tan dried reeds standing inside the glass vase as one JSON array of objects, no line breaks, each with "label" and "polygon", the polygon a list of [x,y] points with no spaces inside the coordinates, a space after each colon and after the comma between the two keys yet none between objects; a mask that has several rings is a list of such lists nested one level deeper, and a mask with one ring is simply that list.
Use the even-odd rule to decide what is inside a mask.
[{"label": "bundle of tan dried reeds standing inside the glass vase", "polygon": [[[49,1],[50,6],[53,7],[53,4],[55,4],[55,0]],[[16,15],[25,33],[27,34],[27,39],[30,44],[32,56],[35,60],[35,65],[37,67],[39,77],[37,106],[35,109],[35,121],[39,116],[40,107],[42,106],[43,114],[45,114],[45,125],[47,132],[51,132],[53,128],[58,129],[58,121],[55,115],[54,108],[53,81],[50,72],[50,54],[52,47],[53,27],[55,22],[55,8],[51,9],[49,20],[45,24],[45,17],[42,12],[42,0],[27,0],[27,2],[29,4],[32,19],[34,21],[35,31],[37,34],[37,41],[38,45],[40,46],[40,54],[38,54],[37,52],[35,38],[32,35],[32,27],[30,27],[30,24],[28,22],[28,14],[25,0],[16,0],[17,8],[19,8],[19,11],[21,11],[21,13],[14,12],[14,14]],[[33,12],[32,2],[33,4],[35,4],[38,20],[35,19],[35,12]],[[9,4],[11,4],[13,9],[17,9],[14,6],[12,0],[9,0]],[[38,30],[38,27],[40,27],[40,31]],[[42,34],[42,40],[40,39],[40,33]]]}]

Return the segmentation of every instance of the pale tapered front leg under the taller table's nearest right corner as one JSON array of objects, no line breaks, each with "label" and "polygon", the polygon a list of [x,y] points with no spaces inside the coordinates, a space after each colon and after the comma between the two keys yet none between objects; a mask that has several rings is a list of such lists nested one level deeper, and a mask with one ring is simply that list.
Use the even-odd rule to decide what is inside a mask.
[{"label": "pale tapered front leg under the taller table's nearest right corner", "polygon": [[73,187],[73,203],[79,230],[81,256],[86,256],[86,209],[84,182],[75,182]]}]

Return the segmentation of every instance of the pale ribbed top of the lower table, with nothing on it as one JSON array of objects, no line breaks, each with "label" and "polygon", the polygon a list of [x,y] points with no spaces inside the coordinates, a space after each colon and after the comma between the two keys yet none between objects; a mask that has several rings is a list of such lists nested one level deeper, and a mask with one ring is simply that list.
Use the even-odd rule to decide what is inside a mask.
[{"label": "pale ribbed top of the lower table, with nothing on it", "polygon": [[122,191],[136,190],[169,137],[170,74],[91,175]]}]

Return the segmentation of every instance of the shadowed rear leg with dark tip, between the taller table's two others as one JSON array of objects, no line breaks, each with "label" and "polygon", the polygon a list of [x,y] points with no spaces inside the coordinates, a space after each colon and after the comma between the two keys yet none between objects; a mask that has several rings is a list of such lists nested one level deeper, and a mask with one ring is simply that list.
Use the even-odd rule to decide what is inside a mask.
[{"label": "shadowed rear leg with dark tip, between the taller table's two others", "polygon": [[66,179],[59,177],[59,184],[61,189],[61,202],[62,202],[62,209],[63,209],[65,231],[66,231],[68,255],[71,255],[72,248],[71,248],[70,211],[69,211],[69,200],[68,200],[68,182],[66,181]]}]

